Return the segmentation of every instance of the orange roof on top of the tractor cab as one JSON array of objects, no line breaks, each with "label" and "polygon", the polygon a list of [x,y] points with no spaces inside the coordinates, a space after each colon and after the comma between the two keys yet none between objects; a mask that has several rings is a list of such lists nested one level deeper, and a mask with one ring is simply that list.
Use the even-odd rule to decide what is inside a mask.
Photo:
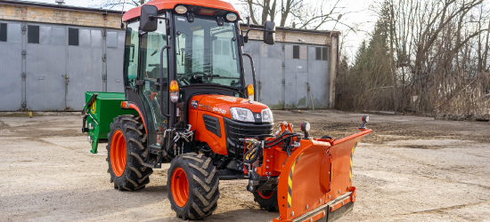
[{"label": "orange roof on top of the tractor cab", "polygon": [[[200,7],[214,8],[214,9],[220,9],[229,12],[235,12],[239,16],[239,18],[241,18],[240,13],[235,10],[232,4],[219,0],[153,0],[146,4],[157,6],[159,11],[165,9],[174,9],[177,4],[196,5]],[[140,16],[141,16],[141,6],[127,11],[123,16],[123,21],[132,20]]]}]

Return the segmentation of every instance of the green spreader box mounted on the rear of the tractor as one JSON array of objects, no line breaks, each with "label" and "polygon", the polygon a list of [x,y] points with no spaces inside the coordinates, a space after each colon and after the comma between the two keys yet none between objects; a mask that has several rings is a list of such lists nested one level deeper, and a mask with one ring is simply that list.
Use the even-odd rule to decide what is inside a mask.
[{"label": "green spreader box mounted on the rear of the tractor", "polygon": [[124,92],[86,91],[86,105],[82,111],[84,123],[82,132],[86,132],[93,154],[97,154],[99,141],[107,139],[110,123],[119,115],[136,115],[134,109],[123,109],[121,102],[126,101]]}]

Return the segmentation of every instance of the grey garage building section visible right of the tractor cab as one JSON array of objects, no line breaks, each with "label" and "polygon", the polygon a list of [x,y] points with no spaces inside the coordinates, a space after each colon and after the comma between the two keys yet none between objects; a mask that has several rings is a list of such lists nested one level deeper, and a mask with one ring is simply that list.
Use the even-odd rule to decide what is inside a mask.
[{"label": "grey garage building section visible right of the tractor cab", "polygon": [[[245,27],[241,29],[246,30]],[[244,47],[244,52],[251,53],[256,63],[258,98],[275,109],[333,108],[335,105],[335,78],[339,61],[339,33],[314,33],[277,28],[275,45],[281,45],[279,47],[265,46],[261,43],[263,35],[262,31],[250,31],[249,43],[251,45],[246,44]],[[288,58],[292,45],[301,45],[306,48],[306,58]],[[328,48],[329,59],[327,61],[318,61],[314,58],[314,50],[317,47]],[[264,55],[263,49],[265,48],[271,49],[265,51]],[[245,69],[246,72],[251,72],[248,68],[248,60],[245,58]],[[250,74],[247,75],[251,78]],[[274,83],[274,85],[265,85],[266,83]]]}]

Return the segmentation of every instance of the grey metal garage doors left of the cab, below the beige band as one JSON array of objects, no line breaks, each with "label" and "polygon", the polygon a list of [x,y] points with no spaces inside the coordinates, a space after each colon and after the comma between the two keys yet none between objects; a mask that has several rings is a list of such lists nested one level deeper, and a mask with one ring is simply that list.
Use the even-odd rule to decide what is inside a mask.
[{"label": "grey metal garage doors left of the cab, below the beige band", "polygon": [[85,91],[124,91],[124,30],[22,20],[0,27],[0,111],[79,111]]}]

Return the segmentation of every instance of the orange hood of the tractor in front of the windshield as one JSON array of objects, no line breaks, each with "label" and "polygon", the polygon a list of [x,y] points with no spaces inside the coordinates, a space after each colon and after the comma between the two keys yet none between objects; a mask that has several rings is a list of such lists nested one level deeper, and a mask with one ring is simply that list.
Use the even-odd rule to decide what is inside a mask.
[{"label": "orange hood of the tractor in front of the windshield", "polygon": [[208,111],[230,119],[232,118],[231,107],[248,108],[255,118],[260,117],[262,110],[268,108],[256,101],[223,95],[197,95],[192,97],[189,106],[189,109]]}]

